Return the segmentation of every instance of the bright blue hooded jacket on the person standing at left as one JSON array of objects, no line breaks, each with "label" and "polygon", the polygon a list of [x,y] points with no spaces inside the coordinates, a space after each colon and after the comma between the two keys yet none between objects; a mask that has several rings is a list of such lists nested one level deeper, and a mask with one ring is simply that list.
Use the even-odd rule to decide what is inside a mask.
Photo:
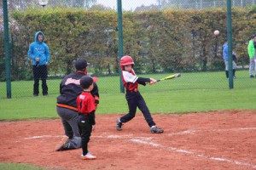
[{"label": "bright blue hooded jacket on the person standing at left", "polygon": [[32,59],[32,65],[37,64],[36,58],[39,58],[39,65],[45,65],[46,62],[49,63],[49,58],[50,58],[49,48],[46,45],[46,43],[44,43],[44,39],[43,39],[43,42],[38,41],[39,33],[43,34],[43,37],[44,37],[44,33],[42,31],[36,32],[35,42],[32,42],[28,50],[28,56],[30,59]]}]

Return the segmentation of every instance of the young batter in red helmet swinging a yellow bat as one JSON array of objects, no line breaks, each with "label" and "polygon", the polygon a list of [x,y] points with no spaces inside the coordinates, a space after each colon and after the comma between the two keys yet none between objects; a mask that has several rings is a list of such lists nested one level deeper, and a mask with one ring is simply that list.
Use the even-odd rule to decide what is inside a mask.
[{"label": "young batter in red helmet swinging a yellow bat", "polygon": [[148,106],[143,99],[143,96],[138,91],[138,84],[143,84],[144,86],[149,83],[154,84],[157,81],[154,78],[143,78],[137,77],[133,71],[134,62],[130,56],[124,56],[120,60],[120,66],[122,70],[122,80],[125,86],[125,99],[127,100],[129,106],[129,113],[125,116],[121,116],[117,119],[118,131],[122,130],[122,124],[124,122],[130,121],[136,114],[137,107],[143,112],[143,116],[148,122],[151,133],[163,133],[164,130],[160,127],[155,126],[155,122],[148,111]]}]

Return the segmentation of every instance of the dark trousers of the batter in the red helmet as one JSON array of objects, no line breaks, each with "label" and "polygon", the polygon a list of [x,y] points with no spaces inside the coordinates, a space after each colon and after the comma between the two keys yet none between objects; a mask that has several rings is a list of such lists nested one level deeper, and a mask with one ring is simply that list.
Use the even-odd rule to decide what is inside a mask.
[{"label": "dark trousers of the batter in the red helmet", "polygon": [[145,120],[148,122],[148,126],[152,127],[155,125],[153,118],[150,112],[148,111],[148,106],[146,105],[143,96],[139,92],[127,92],[125,98],[129,106],[129,113],[125,116],[120,117],[121,122],[130,121],[135,116],[138,107],[139,110],[143,112],[143,116]]}]

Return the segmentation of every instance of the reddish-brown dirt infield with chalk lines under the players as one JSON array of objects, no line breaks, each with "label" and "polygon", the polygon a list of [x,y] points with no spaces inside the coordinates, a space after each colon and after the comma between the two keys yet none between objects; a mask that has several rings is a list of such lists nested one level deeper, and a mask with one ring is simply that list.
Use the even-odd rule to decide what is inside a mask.
[{"label": "reddish-brown dirt infield with chalk lines under the players", "polygon": [[0,122],[0,161],[63,170],[256,169],[256,111],[154,115],[161,134],[150,133],[140,113],[117,132],[119,116],[96,116],[93,161],[82,161],[81,149],[54,151],[63,137],[59,119]]}]

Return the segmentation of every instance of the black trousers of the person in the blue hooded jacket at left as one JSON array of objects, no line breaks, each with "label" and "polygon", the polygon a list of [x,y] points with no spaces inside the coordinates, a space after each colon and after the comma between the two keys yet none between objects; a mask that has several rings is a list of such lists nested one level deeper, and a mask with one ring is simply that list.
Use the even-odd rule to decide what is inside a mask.
[{"label": "black trousers of the person in the blue hooded jacket at left", "polygon": [[39,80],[42,80],[42,88],[43,88],[43,95],[48,94],[48,87],[46,84],[47,79],[47,65],[33,65],[32,67],[33,76],[34,76],[34,88],[33,94],[39,94]]}]

